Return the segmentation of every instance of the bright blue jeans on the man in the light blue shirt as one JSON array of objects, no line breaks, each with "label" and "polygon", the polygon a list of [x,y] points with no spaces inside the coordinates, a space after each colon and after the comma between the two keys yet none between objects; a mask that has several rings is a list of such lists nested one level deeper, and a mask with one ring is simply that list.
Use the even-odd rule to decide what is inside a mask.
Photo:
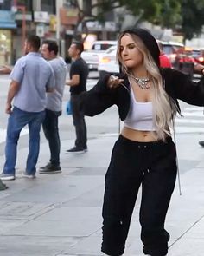
[{"label": "bright blue jeans on the man in the light blue shirt", "polygon": [[41,122],[44,120],[45,111],[26,112],[19,108],[14,108],[10,114],[7,126],[7,138],[5,147],[4,174],[15,174],[17,142],[22,128],[29,126],[29,154],[26,163],[26,173],[35,174],[36,162],[40,149]]}]

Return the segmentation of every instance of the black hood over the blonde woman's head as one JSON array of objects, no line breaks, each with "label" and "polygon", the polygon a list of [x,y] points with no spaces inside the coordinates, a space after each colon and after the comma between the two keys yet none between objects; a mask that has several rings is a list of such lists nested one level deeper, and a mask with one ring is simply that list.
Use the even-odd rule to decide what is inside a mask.
[{"label": "black hood over the blonde woman's head", "polygon": [[154,36],[150,34],[148,30],[140,29],[140,28],[132,28],[130,30],[124,30],[122,34],[129,33],[137,35],[144,43],[144,45],[149,49],[151,56],[153,57],[156,65],[159,67],[159,55],[160,50],[158,44],[156,43],[156,39]]}]

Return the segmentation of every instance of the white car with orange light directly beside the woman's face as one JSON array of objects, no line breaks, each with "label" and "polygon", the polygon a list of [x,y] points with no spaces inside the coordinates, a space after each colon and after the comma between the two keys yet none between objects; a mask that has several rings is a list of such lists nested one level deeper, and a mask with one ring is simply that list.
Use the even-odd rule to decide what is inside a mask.
[{"label": "white car with orange light directly beside the woman's face", "polygon": [[99,77],[110,73],[119,73],[119,65],[117,59],[117,45],[107,49],[103,55],[99,56]]}]

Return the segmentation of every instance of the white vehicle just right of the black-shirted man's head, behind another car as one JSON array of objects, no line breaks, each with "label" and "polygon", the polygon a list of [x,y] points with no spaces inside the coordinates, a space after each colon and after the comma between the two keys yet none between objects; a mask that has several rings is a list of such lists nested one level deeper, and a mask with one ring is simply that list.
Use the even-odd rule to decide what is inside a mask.
[{"label": "white vehicle just right of the black-shirted man's head, behind another car", "polygon": [[117,45],[117,41],[95,41],[92,49],[82,52],[81,57],[86,61],[90,70],[97,70],[99,64],[99,56],[105,53],[112,45]]}]

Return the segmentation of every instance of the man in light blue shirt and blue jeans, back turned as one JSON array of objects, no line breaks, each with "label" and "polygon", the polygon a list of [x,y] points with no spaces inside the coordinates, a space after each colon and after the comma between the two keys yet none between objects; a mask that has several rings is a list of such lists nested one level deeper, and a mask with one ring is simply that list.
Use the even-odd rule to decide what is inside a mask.
[{"label": "man in light blue shirt and blue jeans, back turned", "polygon": [[[53,91],[54,73],[41,57],[39,36],[29,36],[25,41],[25,56],[12,69],[10,89],[6,102],[9,114],[5,146],[5,164],[0,178],[14,180],[16,177],[16,147],[23,127],[29,127],[29,154],[23,176],[35,178],[36,162],[40,148],[41,122],[44,120],[46,91]],[[14,100],[14,101],[13,101]],[[12,108],[13,101],[13,108]]]}]

